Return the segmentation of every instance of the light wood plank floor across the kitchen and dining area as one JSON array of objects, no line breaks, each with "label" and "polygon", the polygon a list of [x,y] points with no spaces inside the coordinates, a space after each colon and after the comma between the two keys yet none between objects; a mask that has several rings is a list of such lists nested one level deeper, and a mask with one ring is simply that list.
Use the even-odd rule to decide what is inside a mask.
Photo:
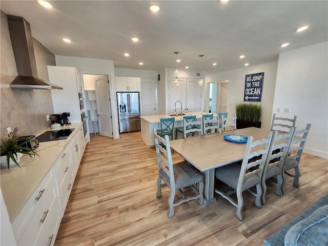
[{"label": "light wood plank floor across the kitchen and dining area", "polygon": [[303,154],[300,188],[286,177],[286,194],[279,197],[269,183],[261,209],[245,192],[243,221],[221,197],[209,207],[198,200],[183,203],[169,219],[169,189],[156,198],[155,150],[146,147],[141,133],[120,139],[92,135],[55,245],[263,245],[264,238],[328,193],[327,164]]}]

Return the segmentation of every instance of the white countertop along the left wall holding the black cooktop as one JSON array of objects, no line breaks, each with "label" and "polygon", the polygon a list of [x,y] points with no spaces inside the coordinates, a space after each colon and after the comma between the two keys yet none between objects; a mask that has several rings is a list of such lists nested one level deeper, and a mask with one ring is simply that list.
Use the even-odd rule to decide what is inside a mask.
[{"label": "white countertop along the left wall holding the black cooktop", "polygon": [[39,157],[35,156],[34,159],[31,159],[30,156],[23,155],[19,162],[21,168],[15,165],[10,167],[10,170],[8,168],[2,168],[0,170],[1,190],[10,219],[25,204],[30,194],[49,172],[52,165],[81,125],[81,122],[76,122],[66,127],[57,129],[49,128],[46,131],[71,128],[74,128],[74,131],[64,140],[39,142],[39,146],[36,149]]}]

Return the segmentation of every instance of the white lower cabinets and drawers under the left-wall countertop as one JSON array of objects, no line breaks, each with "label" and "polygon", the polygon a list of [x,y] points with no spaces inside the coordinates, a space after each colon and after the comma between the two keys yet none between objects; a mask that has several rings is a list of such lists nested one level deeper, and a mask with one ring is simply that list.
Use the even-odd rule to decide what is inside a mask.
[{"label": "white lower cabinets and drawers under the left-wall countertop", "polygon": [[85,147],[86,138],[80,126],[12,219],[17,245],[54,244]]}]

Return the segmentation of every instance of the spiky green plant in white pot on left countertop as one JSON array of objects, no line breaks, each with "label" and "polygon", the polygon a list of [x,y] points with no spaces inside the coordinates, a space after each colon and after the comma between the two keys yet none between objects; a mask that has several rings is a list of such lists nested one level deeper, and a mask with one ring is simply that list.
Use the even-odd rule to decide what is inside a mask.
[{"label": "spiky green plant in white pot on left countertop", "polygon": [[22,144],[17,144],[17,132],[18,128],[16,127],[13,132],[9,133],[8,137],[4,136],[7,140],[1,139],[1,167],[8,167],[9,169],[10,166],[17,165],[20,168],[18,162],[23,154],[29,155],[31,158],[35,155],[39,156],[35,150],[24,146],[28,140]]}]

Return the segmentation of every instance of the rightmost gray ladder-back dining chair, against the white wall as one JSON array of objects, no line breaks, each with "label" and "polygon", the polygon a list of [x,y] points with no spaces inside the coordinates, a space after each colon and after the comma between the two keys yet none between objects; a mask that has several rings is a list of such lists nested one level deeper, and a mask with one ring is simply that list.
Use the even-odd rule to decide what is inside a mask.
[{"label": "rightmost gray ladder-back dining chair, against the white wall", "polygon": [[[305,141],[308,138],[311,124],[306,125],[305,129],[295,131],[291,141],[290,149],[288,150],[288,157],[284,166],[284,174],[293,177],[293,185],[299,187],[299,162],[303,153]],[[290,173],[294,169],[294,174]],[[285,183],[285,176],[283,176],[283,183]],[[284,194],[284,185],[282,185],[282,193]]]}]

